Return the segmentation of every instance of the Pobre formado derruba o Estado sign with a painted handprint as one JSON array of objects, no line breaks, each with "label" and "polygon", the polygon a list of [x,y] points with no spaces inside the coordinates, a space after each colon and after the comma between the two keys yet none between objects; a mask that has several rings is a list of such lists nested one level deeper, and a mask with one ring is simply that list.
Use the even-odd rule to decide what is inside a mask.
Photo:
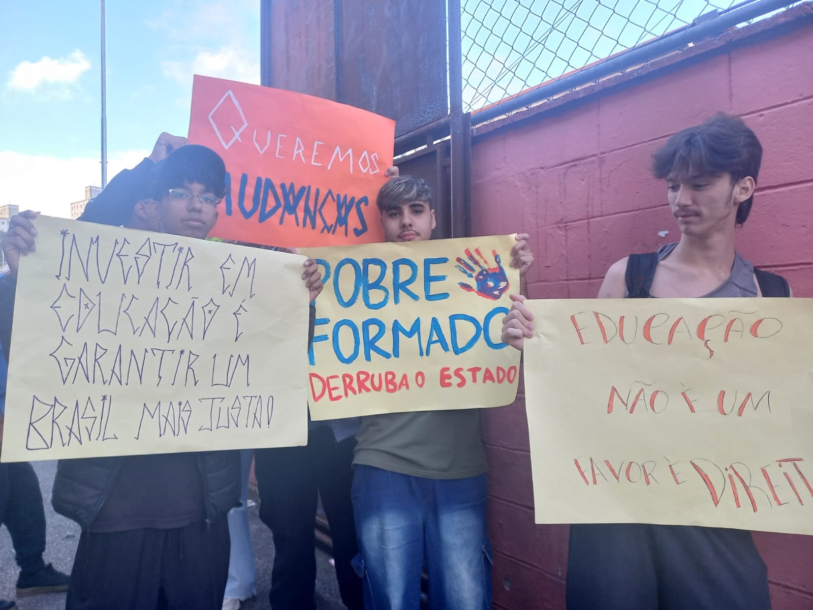
[{"label": "Pobre formado derruba o Estado sign with a painted handprint", "polygon": [[519,352],[502,318],[518,292],[512,236],[302,251],[319,259],[310,407],[315,420],[499,407]]}]

